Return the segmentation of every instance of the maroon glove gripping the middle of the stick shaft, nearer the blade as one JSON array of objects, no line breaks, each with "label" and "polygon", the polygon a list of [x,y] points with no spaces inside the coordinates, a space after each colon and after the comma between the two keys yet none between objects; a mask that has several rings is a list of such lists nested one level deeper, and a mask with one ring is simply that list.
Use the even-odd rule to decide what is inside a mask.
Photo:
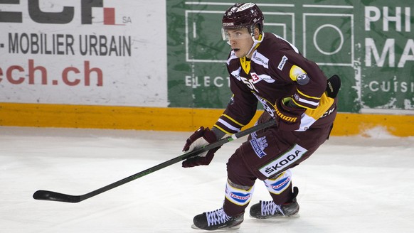
[{"label": "maroon glove gripping the middle of the stick shaft, nearer the blade", "polygon": [[[183,151],[190,152],[198,148],[202,148],[203,146],[206,146],[215,141],[217,141],[216,134],[214,134],[214,132],[210,129],[204,129],[204,127],[201,126],[189,137],[189,139],[187,139]],[[191,168],[195,166],[210,164],[210,162],[213,160],[214,153],[216,153],[220,147],[221,146],[213,148],[210,151],[203,152],[198,156],[186,159],[183,161],[183,167]]]}]

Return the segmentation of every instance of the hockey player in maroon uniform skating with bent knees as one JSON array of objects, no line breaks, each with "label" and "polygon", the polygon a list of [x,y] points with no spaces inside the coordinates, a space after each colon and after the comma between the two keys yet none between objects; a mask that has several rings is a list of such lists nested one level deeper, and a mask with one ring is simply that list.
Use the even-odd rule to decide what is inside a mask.
[{"label": "hockey player in maroon uniform skating with bent knees", "polygon": [[[252,198],[255,180],[263,180],[272,200],[250,207],[258,219],[297,215],[298,189],[290,168],[309,158],[329,137],[336,116],[336,94],[316,63],[280,36],[264,33],[256,4],[235,4],[223,16],[223,40],[231,46],[227,60],[233,97],[212,129],[201,126],[184,151],[201,148],[235,134],[249,123],[260,102],[265,112],[258,124],[277,124],[250,134],[227,163],[223,206],[193,219],[193,228],[238,228]],[[339,77],[334,76],[336,86]],[[329,86],[327,88],[327,86]],[[208,165],[218,148],[182,163],[184,168]]]}]

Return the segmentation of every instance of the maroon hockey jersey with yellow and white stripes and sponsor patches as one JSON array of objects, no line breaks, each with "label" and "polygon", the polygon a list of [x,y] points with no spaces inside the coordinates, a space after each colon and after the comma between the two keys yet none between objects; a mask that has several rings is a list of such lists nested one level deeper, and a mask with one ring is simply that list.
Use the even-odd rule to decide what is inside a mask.
[{"label": "maroon hockey jersey with yellow and white stripes and sponsor patches", "polygon": [[237,58],[230,52],[227,68],[233,97],[214,126],[227,134],[240,131],[255,115],[258,102],[276,117],[275,103],[285,97],[292,97],[294,104],[306,109],[297,131],[331,124],[318,124],[336,104],[324,93],[327,77],[322,70],[283,38],[272,33],[263,36],[250,59]]}]

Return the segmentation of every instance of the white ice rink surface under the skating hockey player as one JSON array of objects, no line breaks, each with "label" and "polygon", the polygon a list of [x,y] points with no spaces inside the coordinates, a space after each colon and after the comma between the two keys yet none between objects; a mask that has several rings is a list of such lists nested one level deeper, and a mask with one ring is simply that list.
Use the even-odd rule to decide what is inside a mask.
[{"label": "white ice rink surface under the skating hockey player", "polygon": [[[182,154],[187,133],[0,127],[0,232],[203,232],[194,215],[221,207],[225,144],[210,166],[158,170],[79,203],[33,200],[36,190],[82,195]],[[331,137],[292,169],[300,217],[228,232],[413,232],[414,137],[373,129]],[[268,200],[258,180],[251,203]],[[249,207],[248,207],[249,208]]]}]

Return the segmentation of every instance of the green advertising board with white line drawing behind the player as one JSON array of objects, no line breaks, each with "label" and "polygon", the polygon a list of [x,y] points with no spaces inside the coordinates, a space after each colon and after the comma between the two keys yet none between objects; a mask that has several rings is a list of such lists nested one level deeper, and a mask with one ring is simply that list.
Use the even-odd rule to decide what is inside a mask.
[{"label": "green advertising board with white line drawing behind the player", "polygon": [[[293,43],[327,77],[340,112],[413,114],[414,5],[406,0],[257,1],[264,31]],[[221,18],[232,3],[166,1],[169,107],[224,108],[230,99]]]}]

